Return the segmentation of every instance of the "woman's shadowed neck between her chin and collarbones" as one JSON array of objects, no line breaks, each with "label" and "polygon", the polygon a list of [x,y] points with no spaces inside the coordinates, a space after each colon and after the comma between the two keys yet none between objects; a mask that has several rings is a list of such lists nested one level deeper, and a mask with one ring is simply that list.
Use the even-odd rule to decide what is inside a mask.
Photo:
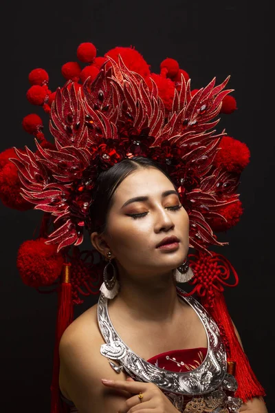
[{"label": "woman's shadowed neck between her chin and collarbones", "polygon": [[130,321],[170,323],[181,304],[172,272],[135,279],[120,271],[120,292],[109,301]]}]

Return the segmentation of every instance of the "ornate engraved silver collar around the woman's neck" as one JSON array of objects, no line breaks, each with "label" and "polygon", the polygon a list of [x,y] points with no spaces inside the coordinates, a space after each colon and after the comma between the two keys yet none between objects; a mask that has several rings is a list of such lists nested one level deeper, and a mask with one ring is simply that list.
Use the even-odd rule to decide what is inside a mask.
[{"label": "ornate engraved silver collar around the woman's neck", "polygon": [[102,294],[98,299],[98,326],[106,343],[100,347],[100,353],[108,359],[118,360],[130,376],[134,374],[140,381],[155,383],[164,391],[197,395],[219,388],[223,379],[227,381],[225,375],[228,376],[226,374],[226,353],[219,335],[219,328],[203,306],[193,297],[183,297],[184,293],[184,290],[177,288],[177,295],[186,301],[199,316],[208,339],[206,358],[198,368],[188,372],[172,372],[153,366],[139,357],[115,331],[108,313],[108,299]]}]

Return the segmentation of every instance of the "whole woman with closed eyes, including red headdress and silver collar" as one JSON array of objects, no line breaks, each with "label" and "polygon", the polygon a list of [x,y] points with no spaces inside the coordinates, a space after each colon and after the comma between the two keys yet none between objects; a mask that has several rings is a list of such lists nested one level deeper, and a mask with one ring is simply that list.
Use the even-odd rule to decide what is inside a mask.
[{"label": "whole woman with closed eyes, including red headdress and silver collar", "polygon": [[[59,370],[63,399],[80,413],[265,413],[264,389],[222,295],[230,270],[237,284],[236,272],[213,264],[208,251],[225,244],[216,232],[239,222],[236,191],[250,155],[213,129],[219,114],[236,107],[232,97],[225,102],[229,78],[191,89],[177,61],[165,59],[154,74],[132,47],[98,58],[94,45],[82,43],[77,56],[89,65],[63,65],[68,82],[56,93],[47,72],[29,75],[28,100],[50,114],[54,142],[30,114],[23,126],[36,136],[36,152],[1,156],[18,170],[5,168],[5,204],[45,212],[39,239],[20,248],[21,277],[39,288],[62,273],[51,413],[62,411]],[[10,174],[19,193],[8,198]],[[72,322],[72,303],[94,275],[69,254],[85,228],[107,264],[98,304]],[[202,305],[176,288],[192,277],[188,246],[201,254],[191,281]]]}]

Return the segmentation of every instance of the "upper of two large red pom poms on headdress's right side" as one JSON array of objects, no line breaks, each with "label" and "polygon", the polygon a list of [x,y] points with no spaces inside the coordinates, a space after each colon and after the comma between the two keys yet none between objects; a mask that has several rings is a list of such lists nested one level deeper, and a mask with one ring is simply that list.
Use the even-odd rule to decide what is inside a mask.
[{"label": "upper of two large red pom poms on headdress's right side", "polygon": [[250,150],[245,143],[230,136],[223,136],[219,151],[214,158],[214,165],[230,172],[241,173],[250,162]]}]

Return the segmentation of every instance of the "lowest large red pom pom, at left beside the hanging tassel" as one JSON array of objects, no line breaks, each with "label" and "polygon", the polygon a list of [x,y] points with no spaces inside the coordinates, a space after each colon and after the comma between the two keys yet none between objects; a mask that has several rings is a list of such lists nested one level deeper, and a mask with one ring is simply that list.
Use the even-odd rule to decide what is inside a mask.
[{"label": "lowest large red pom pom, at left beside the hanging tassel", "polygon": [[24,284],[34,288],[50,286],[61,275],[63,256],[45,238],[25,241],[19,247],[17,268]]}]

